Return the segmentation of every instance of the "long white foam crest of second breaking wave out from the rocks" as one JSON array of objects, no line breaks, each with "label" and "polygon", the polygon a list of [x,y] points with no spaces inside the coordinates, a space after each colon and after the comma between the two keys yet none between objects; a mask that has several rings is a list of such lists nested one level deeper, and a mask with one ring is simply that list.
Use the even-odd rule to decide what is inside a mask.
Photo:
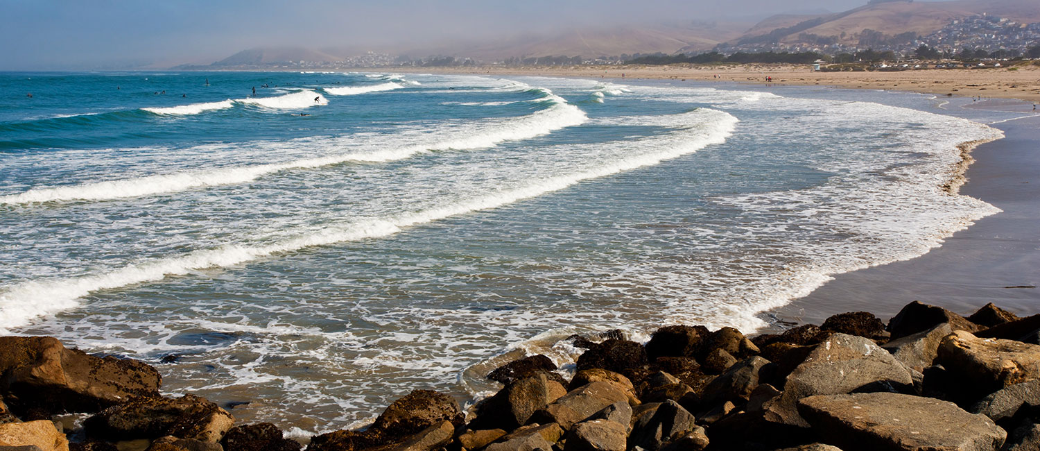
[{"label": "long white foam crest of second breaking wave out from the rocks", "polygon": [[[304,100],[310,98],[310,101],[313,102],[313,98],[310,97],[313,92],[296,94],[303,95]],[[548,100],[554,102],[548,108],[521,118],[478,123],[464,130],[449,129],[449,133],[435,133],[433,140],[421,144],[378,148],[368,152],[352,152],[279,164],[159,174],[69,186],[37,187],[20,194],[0,196],[0,204],[112,200],[175,193],[196,187],[243,183],[262,175],[291,169],[319,168],[347,161],[382,162],[407,158],[432,150],[470,150],[492,147],[505,141],[541,136],[561,128],[580,125],[588,120],[584,111],[577,106],[567,103],[566,100],[551,93],[548,96]],[[308,142],[307,145],[313,145],[313,143]]]}]

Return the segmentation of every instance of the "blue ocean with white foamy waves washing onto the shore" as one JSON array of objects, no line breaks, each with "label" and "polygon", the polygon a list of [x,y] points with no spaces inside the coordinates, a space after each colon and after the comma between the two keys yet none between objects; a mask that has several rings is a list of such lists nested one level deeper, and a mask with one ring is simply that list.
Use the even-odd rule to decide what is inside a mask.
[{"label": "blue ocean with white foamy waves washing onto the shore", "polygon": [[524,354],[566,370],[574,333],[753,332],[834,274],[999,211],[956,185],[959,145],[999,139],[983,122],[1004,117],[950,101],[3,73],[0,332],[142,359],[166,394],[297,434],[360,426],[413,389],[468,402]]}]

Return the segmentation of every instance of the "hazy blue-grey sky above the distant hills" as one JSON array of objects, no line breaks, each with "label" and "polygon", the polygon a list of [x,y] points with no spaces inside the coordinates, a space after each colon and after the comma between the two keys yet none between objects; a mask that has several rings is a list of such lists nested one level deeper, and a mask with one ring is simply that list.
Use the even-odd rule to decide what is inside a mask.
[{"label": "hazy blue-grey sky above the distant hills", "polygon": [[617,23],[844,10],[865,0],[0,0],[0,70],[208,64],[263,46],[432,44]]}]

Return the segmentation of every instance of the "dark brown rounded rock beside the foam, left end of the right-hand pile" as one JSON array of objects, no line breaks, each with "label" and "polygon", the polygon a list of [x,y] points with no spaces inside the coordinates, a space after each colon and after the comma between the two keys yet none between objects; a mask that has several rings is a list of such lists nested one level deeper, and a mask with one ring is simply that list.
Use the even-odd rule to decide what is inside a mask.
[{"label": "dark brown rounded rock beside the foam, left end of the right-hand pile", "polygon": [[454,398],[431,390],[414,390],[394,401],[375,419],[369,431],[398,439],[449,421],[461,426],[464,416]]}]

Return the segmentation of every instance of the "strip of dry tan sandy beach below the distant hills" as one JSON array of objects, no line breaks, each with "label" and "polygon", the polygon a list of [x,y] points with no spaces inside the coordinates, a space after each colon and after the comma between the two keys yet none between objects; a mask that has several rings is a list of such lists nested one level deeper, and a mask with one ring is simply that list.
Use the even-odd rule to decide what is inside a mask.
[{"label": "strip of dry tan sandy beach below the distant hills", "polygon": [[[384,68],[385,70],[385,68]],[[1022,65],[991,69],[929,69],[902,72],[814,72],[792,65],[563,66],[478,68],[395,68],[400,72],[553,77],[674,79],[770,85],[825,85],[866,90],[912,91],[959,97],[1022,99],[1040,102],[1040,67]],[[773,80],[766,82],[765,77]]]}]

